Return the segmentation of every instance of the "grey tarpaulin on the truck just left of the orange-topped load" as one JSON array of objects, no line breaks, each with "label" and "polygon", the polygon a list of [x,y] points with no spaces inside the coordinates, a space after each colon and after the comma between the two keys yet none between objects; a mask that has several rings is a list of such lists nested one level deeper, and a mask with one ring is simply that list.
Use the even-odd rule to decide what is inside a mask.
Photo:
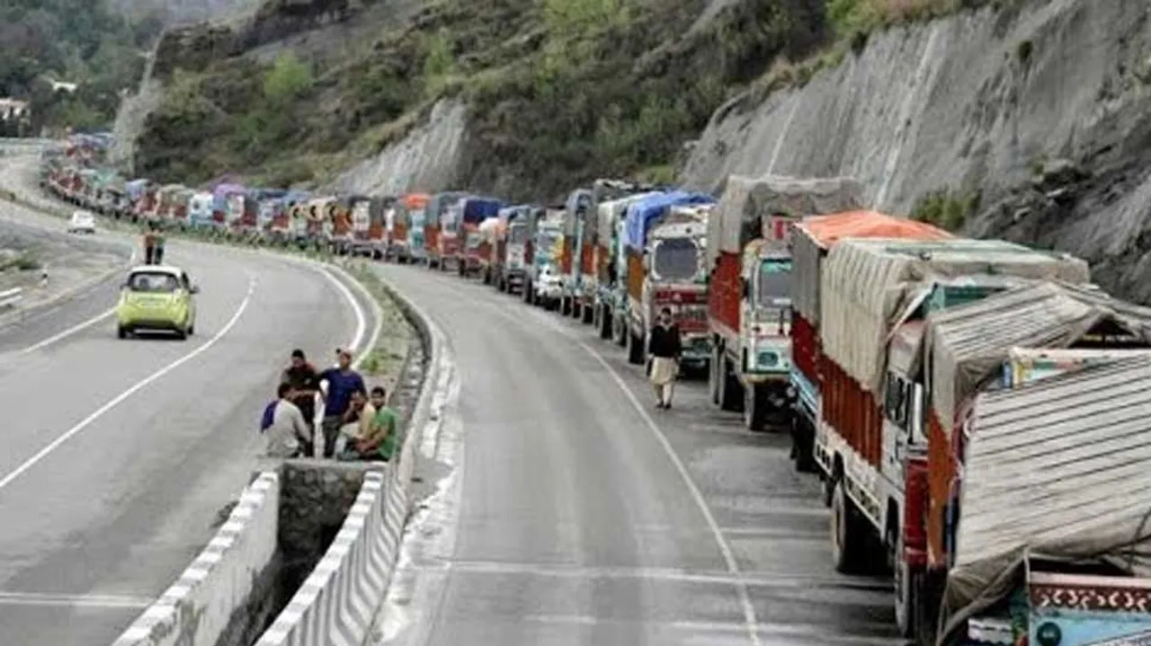
[{"label": "grey tarpaulin on the truck just left of the orange-topped load", "polygon": [[863,207],[863,186],[849,177],[732,175],[721,190],[719,205],[708,218],[708,267],[715,264],[721,252],[742,253],[744,245],[759,237],[764,216],[806,217]]}]

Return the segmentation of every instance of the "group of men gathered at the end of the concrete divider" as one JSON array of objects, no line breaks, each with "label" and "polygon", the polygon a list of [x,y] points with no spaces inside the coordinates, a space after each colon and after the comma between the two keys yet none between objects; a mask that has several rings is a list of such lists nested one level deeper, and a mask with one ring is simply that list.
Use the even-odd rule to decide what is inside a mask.
[{"label": "group of men gathered at the end of the concrete divider", "polygon": [[[399,414],[388,406],[388,393],[375,386],[371,393],[364,377],[352,369],[352,353],[336,351],[337,364],[317,370],[304,351],[291,354],[276,399],[264,410],[260,431],[269,457],[319,457],[388,462],[399,449]],[[323,386],[327,386],[326,393]],[[317,395],[323,394],[320,434],[315,433]]]}]

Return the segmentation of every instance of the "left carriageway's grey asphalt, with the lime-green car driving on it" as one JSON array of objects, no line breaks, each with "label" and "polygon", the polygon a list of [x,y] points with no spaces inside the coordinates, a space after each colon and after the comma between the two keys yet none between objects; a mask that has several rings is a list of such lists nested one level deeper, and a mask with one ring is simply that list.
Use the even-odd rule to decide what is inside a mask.
[{"label": "left carriageway's grey asphalt, with the lime-green car driving on it", "polygon": [[[0,202],[10,220],[63,229]],[[374,324],[283,259],[169,240],[166,262],[201,289],[188,340],[117,339],[115,282],[0,330],[5,646],[110,644],[247,483],[290,349],[327,363]]]}]

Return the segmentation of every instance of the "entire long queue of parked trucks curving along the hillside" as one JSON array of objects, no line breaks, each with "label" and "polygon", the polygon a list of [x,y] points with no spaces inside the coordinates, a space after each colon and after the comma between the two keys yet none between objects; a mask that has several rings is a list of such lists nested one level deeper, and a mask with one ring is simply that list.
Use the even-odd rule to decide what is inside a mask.
[{"label": "entire long queue of parked trucks curving along the hillside", "polygon": [[[107,183],[45,163],[66,199],[104,203]],[[830,566],[890,575],[905,637],[1151,643],[1151,309],[1081,259],[868,210],[851,178],[732,176],[718,195],[601,179],[562,206],[122,193],[134,217],[254,220],[269,239],[477,276],[637,364],[670,308],[714,405],[791,433],[831,508]]]}]

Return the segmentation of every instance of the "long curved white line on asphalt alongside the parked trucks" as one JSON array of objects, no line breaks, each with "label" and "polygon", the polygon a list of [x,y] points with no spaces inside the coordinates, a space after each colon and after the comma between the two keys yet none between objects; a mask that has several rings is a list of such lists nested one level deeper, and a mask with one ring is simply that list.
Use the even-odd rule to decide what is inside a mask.
[{"label": "long curved white line on asphalt alongside the parked trucks", "polygon": [[[450,284],[448,283],[447,279],[442,282],[444,284]],[[516,322],[521,322],[520,318],[516,318],[514,316],[509,314],[504,308],[500,307],[498,303],[491,302],[491,300],[488,300],[487,302],[491,303],[494,306],[495,312],[497,312],[501,316]],[[668,455],[668,459],[676,468],[676,471],[678,471],[679,477],[684,483],[684,486],[687,487],[687,491],[691,493],[692,499],[695,502],[695,506],[699,508],[700,513],[703,515],[704,522],[711,530],[711,536],[715,539],[716,545],[719,547],[719,553],[723,556],[724,564],[727,568],[727,572],[734,578],[734,587],[737,590],[737,593],[739,594],[740,606],[742,607],[744,610],[744,623],[745,628],[747,629],[748,640],[752,643],[752,646],[760,646],[761,640],[759,632],[759,620],[756,618],[755,606],[752,605],[752,595],[748,592],[747,583],[746,580],[744,580],[744,575],[740,572],[739,562],[735,561],[735,555],[731,549],[731,545],[727,544],[727,538],[724,536],[723,530],[719,528],[719,523],[716,522],[715,515],[711,514],[711,508],[708,506],[707,499],[703,498],[703,492],[700,491],[700,487],[695,484],[695,480],[692,479],[691,471],[687,470],[687,466],[684,464],[684,461],[680,460],[679,454],[676,453],[674,447],[671,446],[671,441],[663,433],[663,431],[660,430],[660,426],[655,423],[655,420],[651,418],[651,415],[647,412],[643,405],[640,403],[640,400],[637,399],[635,393],[632,392],[632,389],[627,385],[627,382],[624,380],[623,376],[620,376],[619,372],[617,372],[616,369],[612,368],[610,363],[608,363],[608,360],[601,356],[600,353],[595,351],[595,348],[587,345],[587,343],[585,343],[582,339],[573,334],[569,328],[559,324],[551,316],[547,316],[546,313],[540,312],[535,308],[532,309],[534,310],[533,314],[539,321],[543,322],[552,330],[558,331],[563,336],[567,337],[567,339],[576,343],[579,347],[584,348],[584,352],[590,355],[592,359],[594,359],[597,363],[600,363],[600,366],[602,366],[608,371],[612,380],[616,382],[616,385],[619,386],[619,391],[624,394],[625,398],[627,398],[632,407],[635,409],[635,413],[643,421],[647,429],[651,431],[651,436],[656,439],[660,446],[663,447],[664,453]]]}]

